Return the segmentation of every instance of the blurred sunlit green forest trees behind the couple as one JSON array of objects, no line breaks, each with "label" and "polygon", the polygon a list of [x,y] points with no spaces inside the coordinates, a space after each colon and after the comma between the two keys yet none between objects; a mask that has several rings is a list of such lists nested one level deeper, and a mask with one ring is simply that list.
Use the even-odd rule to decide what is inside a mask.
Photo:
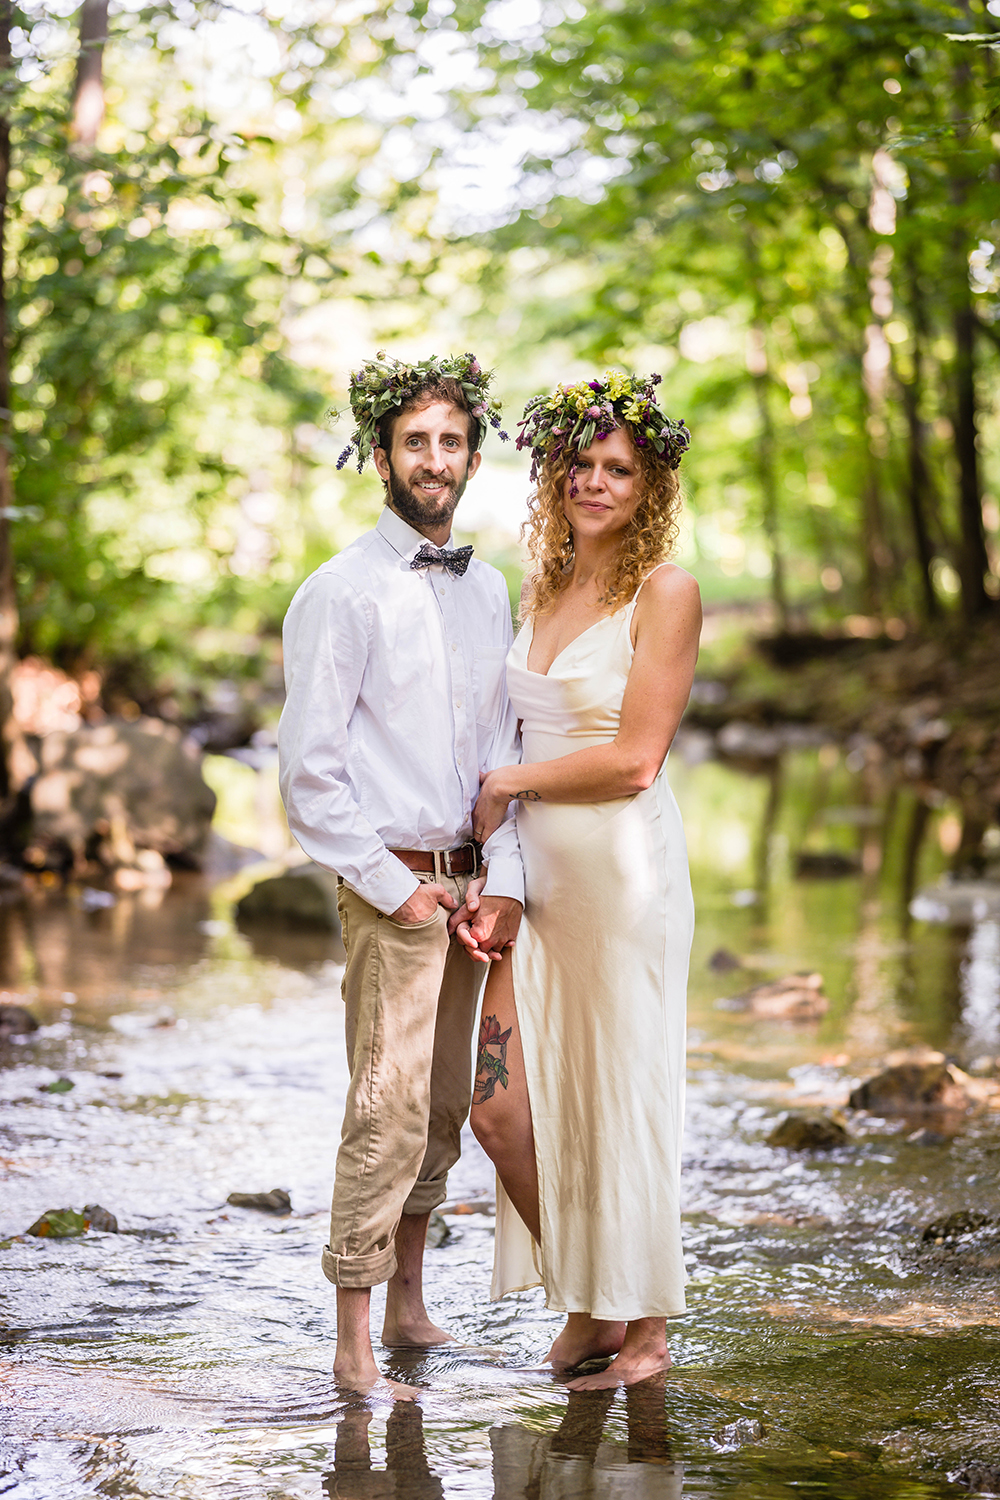
[{"label": "blurred sunlit green forest trees behind the couple", "polygon": [[[996,614],[1000,0],[0,12],[15,783],[16,660],[70,716],[267,718],[295,586],[381,502],[328,416],[379,346],[474,350],[508,428],[661,372],[720,618]],[[516,585],[511,447],[459,516]]]}]

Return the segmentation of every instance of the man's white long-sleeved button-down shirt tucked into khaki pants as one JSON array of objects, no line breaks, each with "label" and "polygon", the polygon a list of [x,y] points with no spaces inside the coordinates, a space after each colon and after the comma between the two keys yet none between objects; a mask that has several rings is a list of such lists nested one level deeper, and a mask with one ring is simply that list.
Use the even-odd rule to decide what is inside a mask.
[{"label": "man's white long-sleeved button-down shirt tucked into khaki pants", "polygon": [[[472,560],[414,572],[426,538],[388,507],[324,562],[285,616],[279,728],[288,824],[307,855],[381,912],[418,880],[390,849],[472,837],[480,771],[516,765],[507,585]],[[486,894],[525,898],[514,819],[483,849]]]}]

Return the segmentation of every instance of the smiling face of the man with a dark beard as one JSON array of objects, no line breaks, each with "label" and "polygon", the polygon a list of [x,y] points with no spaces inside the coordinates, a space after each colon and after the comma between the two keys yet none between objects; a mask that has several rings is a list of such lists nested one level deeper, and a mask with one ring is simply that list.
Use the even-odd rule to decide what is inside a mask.
[{"label": "smiling face of the man with a dark beard", "polygon": [[375,448],[393,510],[417,531],[447,534],[480,460],[469,453],[468,412],[444,400],[405,411],[393,424],[391,453]]}]

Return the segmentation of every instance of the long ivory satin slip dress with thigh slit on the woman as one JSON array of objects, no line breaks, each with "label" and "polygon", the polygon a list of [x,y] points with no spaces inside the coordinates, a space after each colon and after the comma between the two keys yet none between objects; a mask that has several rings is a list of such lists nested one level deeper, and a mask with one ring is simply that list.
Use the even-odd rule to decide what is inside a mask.
[{"label": "long ivory satin slip dress with thigh slit on the woman", "polygon": [[[523,759],[618,732],[636,600],[528,670],[532,624],[507,658]],[[535,1132],[541,1244],[498,1180],[492,1296],[538,1286],[597,1318],[684,1312],[681,1131],[694,909],[666,760],[610,802],[523,802],[525,916],[514,996]]]}]

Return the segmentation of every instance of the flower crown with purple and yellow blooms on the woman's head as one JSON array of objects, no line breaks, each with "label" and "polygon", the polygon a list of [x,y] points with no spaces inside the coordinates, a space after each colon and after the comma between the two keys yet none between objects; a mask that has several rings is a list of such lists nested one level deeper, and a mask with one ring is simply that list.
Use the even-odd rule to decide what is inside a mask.
[{"label": "flower crown with purple and yellow blooms on the woman's head", "polygon": [[660,375],[622,375],[606,370],[604,380],[580,381],[577,386],[556,386],[549,396],[534,396],[525,406],[517,434],[517,447],[531,448],[531,478],[546,459],[562,453],[579,454],[597,438],[601,441],[615,428],[627,423],[636,446],[663,453],[670,468],[678,468],[691,444],[684,422],[673,422],[657,405],[655,387]]}]

